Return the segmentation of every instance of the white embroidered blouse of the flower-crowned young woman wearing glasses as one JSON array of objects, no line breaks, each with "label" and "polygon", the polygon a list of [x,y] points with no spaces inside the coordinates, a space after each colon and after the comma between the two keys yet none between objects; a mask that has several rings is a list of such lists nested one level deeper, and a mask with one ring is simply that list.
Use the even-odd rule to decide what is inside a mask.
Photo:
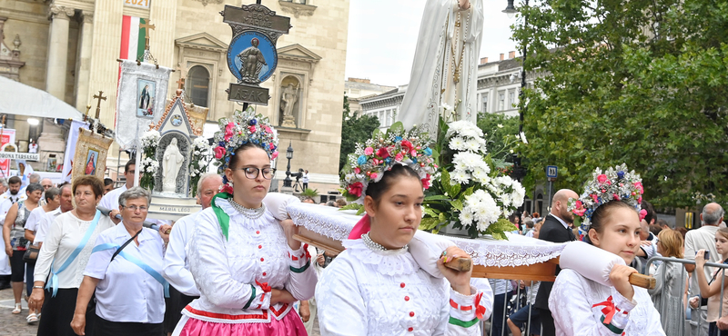
[{"label": "white embroidered blouse of the flower-crowned young woman wearing glasses", "polygon": [[305,245],[291,251],[283,228],[266,212],[251,220],[225,199],[215,200],[230,216],[227,239],[212,207],[199,212],[187,244],[189,272],[200,298],[182,311],[190,318],[222,323],[278,321],[290,304],[270,305],[270,286],[308,300],[316,287],[316,271]]}]

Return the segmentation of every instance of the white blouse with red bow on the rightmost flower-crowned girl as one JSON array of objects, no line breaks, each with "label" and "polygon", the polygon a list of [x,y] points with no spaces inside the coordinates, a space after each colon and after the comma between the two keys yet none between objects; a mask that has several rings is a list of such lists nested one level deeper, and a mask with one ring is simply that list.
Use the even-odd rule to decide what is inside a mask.
[{"label": "white blouse with red bow on the rightmost flower-crowned girl", "polygon": [[[608,321],[608,301],[614,313]],[[604,303],[604,304],[602,304]],[[597,306],[594,306],[594,305]],[[557,335],[664,335],[660,313],[647,290],[634,287],[632,301],[614,287],[593,282],[573,270],[561,270],[549,297]]]}]

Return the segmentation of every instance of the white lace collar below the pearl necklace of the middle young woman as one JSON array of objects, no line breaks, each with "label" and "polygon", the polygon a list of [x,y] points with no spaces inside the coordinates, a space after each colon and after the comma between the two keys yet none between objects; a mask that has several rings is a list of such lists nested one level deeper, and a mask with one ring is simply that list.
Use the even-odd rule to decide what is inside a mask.
[{"label": "white lace collar below the pearl necklace of the middle young woman", "polygon": [[417,272],[420,266],[407,250],[370,250],[361,239],[345,240],[341,242],[359,262],[375,265],[377,272],[384,275],[406,275]]}]

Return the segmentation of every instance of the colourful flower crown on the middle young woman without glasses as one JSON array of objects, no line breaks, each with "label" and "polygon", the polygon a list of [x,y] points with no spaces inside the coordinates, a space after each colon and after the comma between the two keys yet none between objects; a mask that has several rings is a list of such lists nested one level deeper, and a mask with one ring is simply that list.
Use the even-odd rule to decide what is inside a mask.
[{"label": "colourful flower crown on the middle young woman without glasses", "polygon": [[357,143],[354,153],[347,156],[342,169],[341,186],[344,196],[355,203],[363,203],[370,182],[379,182],[382,175],[395,164],[409,166],[420,175],[425,189],[430,188],[431,175],[438,168],[432,158],[429,139],[417,131],[405,132],[401,123],[393,124],[386,133],[374,131],[365,143]]}]

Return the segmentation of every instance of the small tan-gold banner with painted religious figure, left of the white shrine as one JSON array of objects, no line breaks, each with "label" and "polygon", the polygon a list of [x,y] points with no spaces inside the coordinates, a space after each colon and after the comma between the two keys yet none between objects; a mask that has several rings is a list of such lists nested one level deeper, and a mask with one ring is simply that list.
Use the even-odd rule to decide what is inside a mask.
[{"label": "small tan-gold banner with painted religious figure, left of the white shrine", "polygon": [[94,175],[104,178],[106,155],[114,140],[86,129],[79,130],[76,154],[74,155],[73,177]]}]

